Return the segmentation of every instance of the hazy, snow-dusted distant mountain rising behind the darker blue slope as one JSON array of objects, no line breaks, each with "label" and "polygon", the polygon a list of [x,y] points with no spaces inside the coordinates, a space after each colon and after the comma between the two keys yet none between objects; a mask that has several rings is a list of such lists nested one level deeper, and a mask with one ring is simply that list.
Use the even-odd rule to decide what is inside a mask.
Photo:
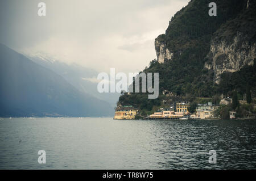
[{"label": "hazy, snow-dusted distant mountain rising behind the darker blue slope", "polygon": [[58,60],[52,60],[52,58],[45,55],[27,56],[30,60],[44,66],[47,69],[51,69],[55,73],[61,75],[67,82],[76,89],[90,94],[95,98],[105,100],[114,108],[118,101],[119,93],[115,92],[98,92],[97,90],[97,76],[98,72],[89,68],[84,68],[77,64],[65,64]]}]

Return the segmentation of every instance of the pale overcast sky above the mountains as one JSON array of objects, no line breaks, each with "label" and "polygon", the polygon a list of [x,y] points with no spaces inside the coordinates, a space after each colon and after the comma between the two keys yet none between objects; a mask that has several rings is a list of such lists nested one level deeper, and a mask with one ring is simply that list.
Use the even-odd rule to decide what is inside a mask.
[{"label": "pale overcast sky above the mountains", "polygon": [[[46,16],[38,16],[38,3]],[[97,71],[138,72],[156,58],[154,40],[188,0],[1,0],[0,43]]]}]

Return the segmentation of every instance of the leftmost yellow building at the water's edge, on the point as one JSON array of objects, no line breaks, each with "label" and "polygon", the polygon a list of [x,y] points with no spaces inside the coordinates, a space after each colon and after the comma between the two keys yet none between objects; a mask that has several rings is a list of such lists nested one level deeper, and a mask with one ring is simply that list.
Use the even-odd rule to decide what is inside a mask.
[{"label": "leftmost yellow building at the water's edge, on the point", "polygon": [[133,106],[124,106],[115,108],[114,119],[135,119],[138,110]]}]

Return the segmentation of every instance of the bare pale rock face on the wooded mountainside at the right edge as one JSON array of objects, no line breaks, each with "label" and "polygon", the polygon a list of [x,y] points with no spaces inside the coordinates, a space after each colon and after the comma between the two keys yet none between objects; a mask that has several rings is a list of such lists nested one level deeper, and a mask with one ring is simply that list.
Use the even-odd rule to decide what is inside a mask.
[{"label": "bare pale rock face on the wooded mountainside at the right edge", "polygon": [[210,52],[205,68],[214,71],[214,82],[220,83],[220,75],[225,71],[234,72],[245,65],[253,65],[255,56],[255,43],[242,33],[237,32],[230,42],[225,39],[213,39],[210,43]]}]

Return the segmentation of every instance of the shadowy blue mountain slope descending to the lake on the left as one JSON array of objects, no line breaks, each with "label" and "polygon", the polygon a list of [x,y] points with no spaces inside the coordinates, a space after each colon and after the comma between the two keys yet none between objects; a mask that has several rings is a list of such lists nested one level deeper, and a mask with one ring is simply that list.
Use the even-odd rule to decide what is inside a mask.
[{"label": "shadowy blue mountain slope descending to the lake on the left", "polygon": [[0,116],[112,116],[106,102],[0,44]]}]

